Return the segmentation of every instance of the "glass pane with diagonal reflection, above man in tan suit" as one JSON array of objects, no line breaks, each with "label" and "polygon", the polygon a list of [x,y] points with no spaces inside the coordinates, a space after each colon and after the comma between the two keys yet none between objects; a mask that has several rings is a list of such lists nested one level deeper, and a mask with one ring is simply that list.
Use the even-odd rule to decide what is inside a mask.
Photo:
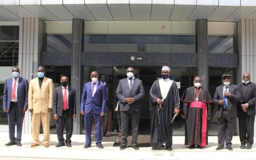
[{"label": "glass pane with diagonal reflection, above man in tan suit", "polygon": [[71,52],[72,34],[47,34],[47,52]]}]

